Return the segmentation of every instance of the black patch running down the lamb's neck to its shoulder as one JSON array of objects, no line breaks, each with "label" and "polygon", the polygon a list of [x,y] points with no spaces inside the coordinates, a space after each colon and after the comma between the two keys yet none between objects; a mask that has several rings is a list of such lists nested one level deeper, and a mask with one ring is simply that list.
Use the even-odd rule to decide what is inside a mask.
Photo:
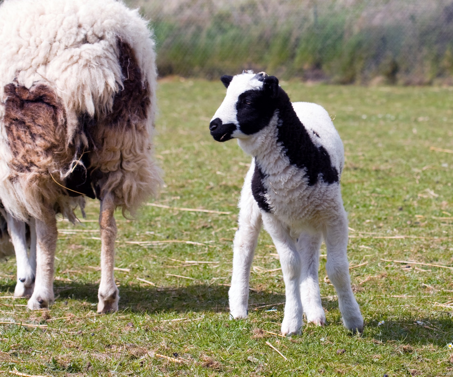
[{"label": "black patch running down the lamb's neck to its shoulder", "polygon": [[337,169],[332,166],[326,149],[313,144],[288,95],[281,88],[277,101],[279,111],[277,142],[283,146],[289,162],[301,169],[307,169],[309,186],[316,184],[319,176],[329,184],[338,182]]}]

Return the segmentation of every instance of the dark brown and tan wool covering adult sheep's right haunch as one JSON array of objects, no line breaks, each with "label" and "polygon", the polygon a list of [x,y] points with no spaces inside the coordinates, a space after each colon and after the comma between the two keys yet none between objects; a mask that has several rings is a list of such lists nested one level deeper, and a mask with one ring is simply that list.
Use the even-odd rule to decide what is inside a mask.
[{"label": "dark brown and tan wool covering adult sheep's right haunch", "polygon": [[[135,52],[117,39],[118,64],[122,72],[120,91],[106,114],[79,118],[87,136],[92,186],[96,197],[111,192],[115,205],[131,214],[159,186],[157,168],[149,158],[148,110],[151,95]],[[80,122],[82,121],[82,123]]]}]

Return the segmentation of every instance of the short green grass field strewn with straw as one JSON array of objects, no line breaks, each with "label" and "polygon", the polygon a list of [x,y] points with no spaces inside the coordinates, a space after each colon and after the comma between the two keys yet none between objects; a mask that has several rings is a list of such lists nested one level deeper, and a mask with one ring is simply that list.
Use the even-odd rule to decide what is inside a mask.
[{"label": "short green grass field strewn with straw", "polygon": [[1,375],[16,368],[48,376],[453,376],[453,154],[430,150],[453,149],[453,88],[282,86],[292,100],[323,105],[342,136],[363,334],[340,323],[325,257],[319,279],[328,325],[306,325],[292,338],[270,334],[280,329],[284,284],[264,232],[250,316],[229,320],[231,241],[250,157],[209,135],[225,92],[220,81],[168,78],[159,84],[155,137],[166,186],[154,203],[229,214],[145,206],[132,221],[118,213],[116,266],[125,270],[116,271],[120,311],[111,315],[96,314],[94,201],[87,222],[58,223],[51,310],[28,311],[25,299],[7,298],[15,260],[1,262],[0,321],[16,323],[0,325]]}]

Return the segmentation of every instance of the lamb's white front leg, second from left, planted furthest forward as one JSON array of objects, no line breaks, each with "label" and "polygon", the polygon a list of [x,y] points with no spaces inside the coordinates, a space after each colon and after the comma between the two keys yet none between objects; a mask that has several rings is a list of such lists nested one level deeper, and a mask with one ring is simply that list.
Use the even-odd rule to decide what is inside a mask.
[{"label": "lamb's white front leg, second from left, planted furthest forward", "polygon": [[272,237],[280,255],[280,265],[285,284],[286,303],[282,321],[282,334],[300,334],[304,325],[302,320],[302,302],[300,300],[301,259],[295,240],[289,235],[289,229],[274,215],[263,214],[264,228]]}]

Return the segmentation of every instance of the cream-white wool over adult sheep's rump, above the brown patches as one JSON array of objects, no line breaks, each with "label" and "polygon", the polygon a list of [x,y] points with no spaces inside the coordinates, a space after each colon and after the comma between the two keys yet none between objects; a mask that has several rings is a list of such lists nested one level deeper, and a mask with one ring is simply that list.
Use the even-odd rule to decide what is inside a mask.
[{"label": "cream-white wool over adult sheep's rump, above the brown patches", "polygon": [[14,79],[27,87],[43,80],[53,83],[67,109],[93,115],[110,108],[121,82],[117,36],[134,49],[144,78],[155,84],[147,22],[121,1],[7,0],[0,24],[0,98]]}]

